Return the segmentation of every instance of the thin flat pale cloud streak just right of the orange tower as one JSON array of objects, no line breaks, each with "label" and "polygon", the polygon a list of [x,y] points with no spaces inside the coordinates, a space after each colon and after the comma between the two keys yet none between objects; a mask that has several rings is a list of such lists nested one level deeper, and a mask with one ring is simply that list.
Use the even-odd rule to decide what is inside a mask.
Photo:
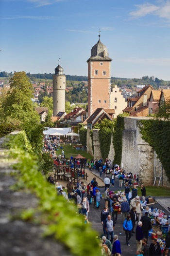
[{"label": "thin flat pale cloud streak just right of the orange tower", "polygon": [[154,66],[170,66],[170,58],[151,58],[151,59],[129,58],[129,59],[115,59],[115,61],[154,65]]}]

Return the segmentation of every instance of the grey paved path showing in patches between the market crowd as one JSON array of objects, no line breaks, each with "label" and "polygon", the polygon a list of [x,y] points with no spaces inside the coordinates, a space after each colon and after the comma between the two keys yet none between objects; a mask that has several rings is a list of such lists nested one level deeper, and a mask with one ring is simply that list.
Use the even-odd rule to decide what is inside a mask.
[{"label": "grey paved path showing in patches between the market crowd", "polygon": [[[100,177],[100,174],[94,170],[94,175],[96,175],[97,177]],[[104,179],[104,175],[102,174],[102,180]],[[110,187],[111,190],[114,189],[114,191],[118,191],[120,190],[119,188],[119,180],[116,179],[115,183],[114,183],[114,187]],[[121,189],[122,191],[124,190],[124,187],[122,187]],[[104,188],[100,188],[101,193],[104,193]],[[139,190],[139,196],[140,196],[140,190]],[[170,215],[170,212],[168,211],[167,207],[170,206],[170,197],[159,197],[156,198],[157,201],[159,203],[155,203],[152,206],[154,208],[160,209],[165,211],[165,213],[167,215]],[[166,202],[166,203],[165,203]],[[167,205],[168,202],[168,205]],[[165,208],[164,208],[165,207]],[[92,227],[96,230],[97,234],[102,235],[102,224],[101,224],[101,211],[104,208],[104,199],[101,200],[101,206],[100,209],[97,210],[94,205],[90,206],[90,212],[88,214],[88,219],[92,225]],[[119,236],[119,241],[121,243],[121,251],[122,251],[122,256],[134,256],[136,254],[136,238],[135,236],[132,236],[132,238],[130,239],[130,246],[126,245],[126,239],[125,239],[125,234],[122,228],[122,215],[119,214],[118,215],[118,220],[117,223],[115,225],[115,231],[114,234]],[[135,228],[136,229],[136,228]],[[134,230],[135,230],[134,229]],[[134,234],[135,235],[135,234]],[[151,243],[151,237],[149,237],[148,239],[148,243],[150,245]]]}]

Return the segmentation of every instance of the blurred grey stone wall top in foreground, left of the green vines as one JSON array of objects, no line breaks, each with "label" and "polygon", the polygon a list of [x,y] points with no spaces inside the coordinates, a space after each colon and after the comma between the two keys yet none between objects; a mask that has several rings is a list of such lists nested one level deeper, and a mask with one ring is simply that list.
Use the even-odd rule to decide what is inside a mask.
[{"label": "blurred grey stone wall top in foreground, left of the green vines", "polygon": [[23,211],[39,207],[38,198],[27,189],[12,190],[18,171],[11,167],[16,161],[10,159],[3,142],[0,138],[0,256],[72,256],[61,242],[43,237],[38,216],[36,223],[19,218]]}]

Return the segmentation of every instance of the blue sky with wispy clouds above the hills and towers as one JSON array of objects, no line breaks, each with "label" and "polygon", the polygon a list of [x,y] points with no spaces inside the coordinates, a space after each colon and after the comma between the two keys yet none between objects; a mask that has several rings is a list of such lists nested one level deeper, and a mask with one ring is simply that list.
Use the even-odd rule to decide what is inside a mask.
[{"label": "blue sky with wispy clouds above the hills and towers", "polygon": [[87,76],[101,41],[111,75],[170,80],[170,0],[0,0],[0,70]]}]

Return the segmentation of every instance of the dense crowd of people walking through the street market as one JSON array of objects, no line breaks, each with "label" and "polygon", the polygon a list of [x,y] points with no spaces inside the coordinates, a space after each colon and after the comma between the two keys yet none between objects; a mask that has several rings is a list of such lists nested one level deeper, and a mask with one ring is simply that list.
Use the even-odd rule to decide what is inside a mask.
[{"label": "dense crowd of people walking through the street market", "polygon": [[[144,206],[146,198],[146,189],[142,184],[141,187],[132,186],[134,177],[132,173],[125,175],[123,169],[119,166],[111,167],[109,160],[103,163],[100,160],[87,160],[86,166],[89,171],[96,169],[100,176],[104,178],[104,209],[101,210],[102,236],[100,237],[100,246],[102,255],[121,256],[121,244],[119,236],[115,234],[118,221],[118,214],[122,216],[122,230],[125,233],[126,245],[136,244],[136,256],[161,256],[161,248],[157,239],[153,238],[148,243],[149,230],[152,229],[151,219],[148,217],[149,207]],[[113,191],[115,179],[119,180],[119,187],[124,192],[116,193]],[[49,181],[50,182],[50,181]],[[132,186],[132,187],[131,187]],[[79,179],[76,186],[73,186],[71,180],[67,184],[68,199],[77,205],[77,213],[84,216],[84,223],[88,223],[88,213],[90,205],[94,204],[95,208],[101,208],[102,194],[94,177],[86,186]],[[140,195],[138,195],[140,193]],[[59,195],[62,195],[62,190]],[[120,218],[119,218],[120,220]],[[120,232],[117,230],[117,232]],[[120,233],[121,234],[121,233]],[[170,231],[166,237],[166,247],[163,256],[169,256],[170,248]]]}]

